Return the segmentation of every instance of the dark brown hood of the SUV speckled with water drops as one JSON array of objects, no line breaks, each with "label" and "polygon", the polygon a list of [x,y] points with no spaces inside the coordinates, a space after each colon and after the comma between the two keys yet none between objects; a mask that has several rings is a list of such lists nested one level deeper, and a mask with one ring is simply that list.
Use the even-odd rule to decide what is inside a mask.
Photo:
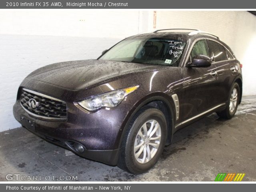
[{"label": "dark brown hood of the SUV speckled with water drops", "polygon": [[71,90],[81,90],[111,78],[154,68],[157,66],[107,60],[80,60],[44,66],[29,74],[27,78]]}]

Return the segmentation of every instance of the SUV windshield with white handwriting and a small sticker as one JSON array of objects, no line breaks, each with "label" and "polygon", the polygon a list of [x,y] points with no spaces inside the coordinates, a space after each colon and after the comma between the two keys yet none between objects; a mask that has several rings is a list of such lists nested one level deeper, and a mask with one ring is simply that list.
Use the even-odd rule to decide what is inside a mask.
[{"label": "SUV windshield with white handwriting and a small sticker", "polygon": [[158,37],[127,38],[101,56],[100,60],[178,66],[186,42]]}]

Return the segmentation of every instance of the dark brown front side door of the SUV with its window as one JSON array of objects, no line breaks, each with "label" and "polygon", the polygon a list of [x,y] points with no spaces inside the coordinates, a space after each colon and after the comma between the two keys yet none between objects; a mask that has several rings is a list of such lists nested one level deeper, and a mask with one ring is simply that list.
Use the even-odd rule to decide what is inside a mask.
[{"label": "dark brown front side door of the SUV with its window", "polygon": [[[198,54],[211,57],[205,39],[198,40],[194,44],[188,62],[191,62],[191,58]],[[208,110],[212,106],[217,80],[216,66],[211,64],[210,67],[206,68],[184,67],[183,78],[180,116],[186,120]]]}]

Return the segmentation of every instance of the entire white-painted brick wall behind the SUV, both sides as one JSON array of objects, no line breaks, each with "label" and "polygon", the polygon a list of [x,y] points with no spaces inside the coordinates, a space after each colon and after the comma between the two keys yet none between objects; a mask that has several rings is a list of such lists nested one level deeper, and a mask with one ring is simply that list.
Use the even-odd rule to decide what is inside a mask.
[{"label": "entire white-painted brick wall behind the SUV, both sides", "polygon": [[[0,131],[20,126],[12,105],[33,70],[68,60],[97,58],[119,40],[153,30],[153,11],[0,10]],[[256,94],[252,69],[256,17],[248,12],[157,11],[157,28],[200,28],[231,46],[244,64],[244,94]]]}]

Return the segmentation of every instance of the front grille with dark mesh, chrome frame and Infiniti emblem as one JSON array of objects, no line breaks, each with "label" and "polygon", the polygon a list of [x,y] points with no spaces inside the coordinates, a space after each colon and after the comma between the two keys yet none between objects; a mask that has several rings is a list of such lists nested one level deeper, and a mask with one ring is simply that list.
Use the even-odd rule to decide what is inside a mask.
[{"label": "front grille with dark mesh, chrome frame and Infiniti emblem", "polygon": [[32,90],[25,88],[21,90],[20,104],[26,112],[39,118],[52,120],[64,120],[67,118],[67,105],[65,102]]}]

